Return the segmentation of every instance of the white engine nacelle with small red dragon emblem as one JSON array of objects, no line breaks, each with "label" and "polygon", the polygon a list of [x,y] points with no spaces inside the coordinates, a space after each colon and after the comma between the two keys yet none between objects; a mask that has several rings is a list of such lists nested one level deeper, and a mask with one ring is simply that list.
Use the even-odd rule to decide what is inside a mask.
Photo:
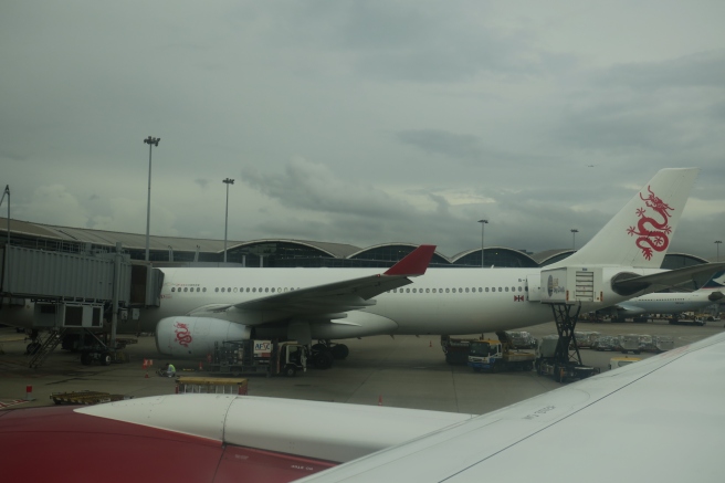
[{"label": "white engine nacelle with small red dragon emblem", "polygon": [[214,343],[246,340],[252,329],[245,325],[209,317],[167,317],[156,325],[156,348],[169,356],[206,357]]}]

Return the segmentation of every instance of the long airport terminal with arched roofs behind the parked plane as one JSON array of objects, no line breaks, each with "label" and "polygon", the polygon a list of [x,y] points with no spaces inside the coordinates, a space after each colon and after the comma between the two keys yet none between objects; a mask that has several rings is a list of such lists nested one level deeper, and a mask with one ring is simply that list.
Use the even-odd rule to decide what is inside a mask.
[{"label": "long airport terminal with arched roofs behind the parked plane", "polygon": [[[8,237],[9,227],[9,237]],[[132,261],[144,261],[146,235],[86,228],[56,227],[0,218],[0,241],[10,240],[14,246],[70,253],[111,252],[120,243]],[[381,243],[359,248],[344,243],[309,240],[263,239],[227,241],[227,262],[237,266],[266,267],[389,267],[410,253],[417,243]],[[435,252],[431,266],[481,267],[481,248],[449,256]],[[486,266],[537,267],[566,259],[574,250],[547,250],[528,253],[506,246],[486,246]],[[218,265],[224,260],[223,240],[192,239],[182,237],[149,237],[149,261],[157,266]],[[686,253],[670,253],[662,269],[707,263],[707,260]]]}]

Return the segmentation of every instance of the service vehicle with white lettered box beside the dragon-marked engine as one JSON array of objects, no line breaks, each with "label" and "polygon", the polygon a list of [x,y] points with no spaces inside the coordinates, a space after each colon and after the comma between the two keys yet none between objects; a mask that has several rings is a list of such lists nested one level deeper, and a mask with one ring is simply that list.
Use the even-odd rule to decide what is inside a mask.
[{"label": "service vehicle with white lettered box beside the dragon-marked engine", "polygon": [[240,340],[214,344],[209,364],[211,372],[266,372],[293,377],[307,370],[307,347],[295,342]]}]

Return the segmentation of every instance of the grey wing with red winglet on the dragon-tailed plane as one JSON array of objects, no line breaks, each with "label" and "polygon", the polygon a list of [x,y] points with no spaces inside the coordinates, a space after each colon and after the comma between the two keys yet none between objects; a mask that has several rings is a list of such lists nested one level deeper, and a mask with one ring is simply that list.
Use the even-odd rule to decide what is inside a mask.
[{"label": "grey wing with red winglet on the dragon-tailed plane", "polygon": [[[370,298],[376,295],[412,283],[409,277],[425,273],[434,251],[434,245],[420,245],[381,274],[277,293],[239,304],[206,306],[189,315],[265,312],[279,314],[280,318],[292,314],[340,316],[347,311],[375,305]],[[248,325],[253,323],[248,322]]]}]

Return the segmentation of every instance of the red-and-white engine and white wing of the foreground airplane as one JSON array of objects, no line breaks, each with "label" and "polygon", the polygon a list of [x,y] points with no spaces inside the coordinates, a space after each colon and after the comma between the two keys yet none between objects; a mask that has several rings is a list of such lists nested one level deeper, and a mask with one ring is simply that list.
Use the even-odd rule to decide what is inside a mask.
[{"label": "red-and-white engine and white wing of the foreground airplane", "polygon": [[714,483],[723,481],[723,374],[725,333],[479,417],[229,395],[6,410],[2,473],[175,483]]}]

